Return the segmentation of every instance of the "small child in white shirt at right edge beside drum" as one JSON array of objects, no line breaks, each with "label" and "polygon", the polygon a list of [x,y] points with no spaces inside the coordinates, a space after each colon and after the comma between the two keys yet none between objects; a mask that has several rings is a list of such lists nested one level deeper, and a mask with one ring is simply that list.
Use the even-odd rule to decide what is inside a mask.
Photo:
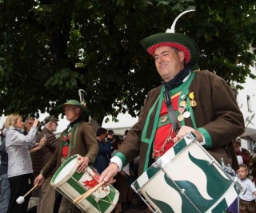
[{"label": "small child in white shirt at right edge beside drum", "polygon": [[243,191],[239,195],[240,213],[256,213],[256,187],[254,183],[247,177],[248,168],[246,164],[240,164],[238,169],[238,177],[241,180]]}]

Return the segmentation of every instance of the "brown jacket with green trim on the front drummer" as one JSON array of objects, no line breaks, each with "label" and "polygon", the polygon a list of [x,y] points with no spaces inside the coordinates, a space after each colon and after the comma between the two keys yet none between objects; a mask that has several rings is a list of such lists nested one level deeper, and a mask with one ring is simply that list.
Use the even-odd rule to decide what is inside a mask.
[{"label": "brown jacket with green trim on the front drummer", "polygon": [[[194,120],[191,119],[193,116],[190,116],[184,120],[185,122],[180,122],[180,125],[190,126],[202,132],[206,140],[206,150],[219,163],[223,158],[226,164],[233,163],[233,168],[237,169],[238,160],[230,141],[240,136],[245,127],[242,112],[229,85],[221,77],[206,70],[195,72],[190,77],[193,79],[188,85],[187,93],[194,92],[194,101],[197,102],[197,106],[192,108]],[[186,89],[185,84],[186,82],[175,89],[176,92]],[[153,163],[150,156],[159,119],[158,106],[162,105],[162,100],[161,85],[150,91],[144,101],[138,123],[130,129],[120,152],[115,154],[121,158],[123,166],[140,156],[139,175]]]}]

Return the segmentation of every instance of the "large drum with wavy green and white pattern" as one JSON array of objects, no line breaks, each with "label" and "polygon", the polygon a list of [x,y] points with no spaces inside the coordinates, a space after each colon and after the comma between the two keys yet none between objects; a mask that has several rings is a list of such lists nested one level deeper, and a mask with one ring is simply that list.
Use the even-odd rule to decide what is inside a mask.
[{"label": "large drum with wavy green and white pattern", "polygon": [[154,212],[225,212],[238,197],[232,177],[194,139],[185,136],[132,188]]}]

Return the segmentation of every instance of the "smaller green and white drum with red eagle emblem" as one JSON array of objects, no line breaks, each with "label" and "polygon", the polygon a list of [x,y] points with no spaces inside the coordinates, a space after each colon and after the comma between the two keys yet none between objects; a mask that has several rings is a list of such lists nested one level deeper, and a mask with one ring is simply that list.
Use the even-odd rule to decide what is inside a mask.
[{"label": "smaller green and white drum with red eagle emblem", "polygon": [[[98,184],[99,175],[93,168],[88,167],[86,172],[76,172],[78,155],[71,156],[55,172],[50,184],[72,202],[79,195]],[[85,212],[111,212],[118,202],[119,192],[113,187],[100,187],[88,198],[76,203]]]}]

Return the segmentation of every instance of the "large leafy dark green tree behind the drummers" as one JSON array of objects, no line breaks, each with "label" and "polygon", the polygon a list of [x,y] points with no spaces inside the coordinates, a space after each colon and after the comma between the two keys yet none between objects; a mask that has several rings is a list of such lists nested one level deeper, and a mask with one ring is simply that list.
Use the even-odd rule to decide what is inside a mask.
[{"label": "large leafy dark green tree behind the drummers", "polygon": [[176,32],[193,37],[199,65],[244,83],[254,77],[255,1],[43,0],[0,1],[0,112],[38,116],[87,93],[91,115],[129,109],[138,115],[146,94],[161,79],[139,45],[165,32],[183,10]]}]

